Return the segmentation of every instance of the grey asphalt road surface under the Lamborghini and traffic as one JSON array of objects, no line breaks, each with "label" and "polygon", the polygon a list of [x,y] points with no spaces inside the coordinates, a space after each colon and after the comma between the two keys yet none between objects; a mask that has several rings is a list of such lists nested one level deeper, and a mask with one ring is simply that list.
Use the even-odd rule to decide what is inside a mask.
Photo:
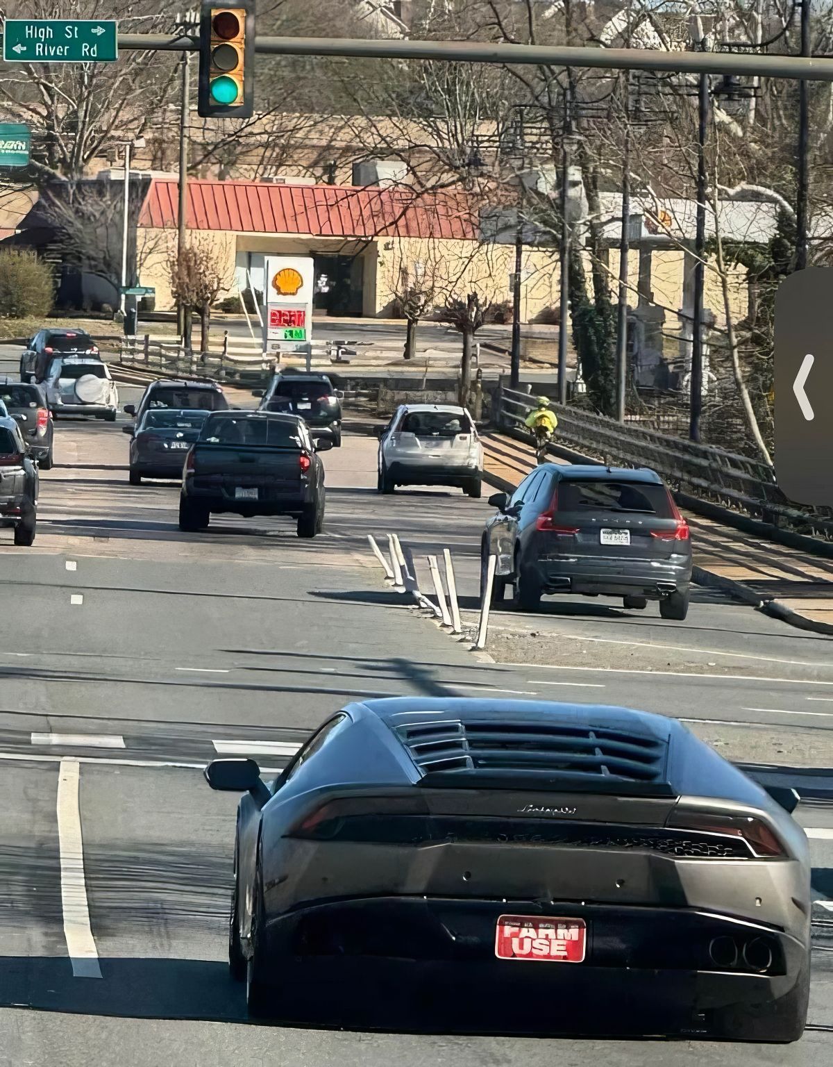
[{"label": "grey asphalt road surface under the Lamborghini and traffic", "polygon": [[[15,355],[0,350],[0,373]],[[124,403],[140,391],[119,392]],[[682,624],[612,603],[549,605],[528,628],[562,654],[483,662],[384,583],[367,534],[398,532],[423,587],[426,555],[450,547],[466,615],[485,500],[380,497],[375,443],[349,436],[324,457],[325,531],[314,541],[288,521],[228,516],[181,534],[175,483],[128,484],[122,425],[60,420],[35,545],[15,548],[0,531],[0,1065],[830,1061],[833,941],[820,924],[815,1029],[785,1049],[387,1033],[384,1005],[372,1039],[247,1024],[225,967],[236,798],[199,774],[218,751],[279,767],[355,697],[499,692],[679,715],[724,731],[733,758],[798,752],[808,766],[833,736],[831,646],[709,594]],[[501,619],[517,632],[517,616]],[[591,658],[575,664],[582,649]],[[823,901],[833,813],[800,818]],[[833,921],[823,904],[815,914]],[[100,976],[74,974],[67,939],[84,974]],[[483,1021],[494,1029],[499,1019]],[[430,1018],[415,1015],[414,1030],[430,1031]]]}]

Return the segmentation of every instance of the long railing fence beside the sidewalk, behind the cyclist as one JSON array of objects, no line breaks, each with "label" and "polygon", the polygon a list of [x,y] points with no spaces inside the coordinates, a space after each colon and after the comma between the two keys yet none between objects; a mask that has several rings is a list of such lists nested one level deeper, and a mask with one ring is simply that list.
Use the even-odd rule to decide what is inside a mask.
[{"label": "long railing fence beside the sidewalk, behind the cyclist", "polygon": [[[501,388],[495,421],[532,442],[524,420],[535,407],[526,393]],[[833,541],[828,509],[801,509],[779,488],[774,472],[762,460],[712,445],[621,424],[571,405],[550,404],[558,416],[556,445],[616,466],[648,466],[677,492],[711,500],[771,526]]]}]

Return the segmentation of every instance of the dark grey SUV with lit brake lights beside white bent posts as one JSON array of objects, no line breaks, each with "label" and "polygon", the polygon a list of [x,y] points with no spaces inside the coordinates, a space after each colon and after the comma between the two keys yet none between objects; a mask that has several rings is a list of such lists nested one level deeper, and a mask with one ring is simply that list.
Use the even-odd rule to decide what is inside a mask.
[{"label": "dark grey SUV with lit brake lights beside white bent posts", "polygon": [[691,538],[654,471],[544,463],[511,496],[496,493],[481,572],[497,557],[493,603],[514,587],[515,606],[534,610],[544,593],[622,596],[627,608],[659,601],[663,619],[686,618]]}]

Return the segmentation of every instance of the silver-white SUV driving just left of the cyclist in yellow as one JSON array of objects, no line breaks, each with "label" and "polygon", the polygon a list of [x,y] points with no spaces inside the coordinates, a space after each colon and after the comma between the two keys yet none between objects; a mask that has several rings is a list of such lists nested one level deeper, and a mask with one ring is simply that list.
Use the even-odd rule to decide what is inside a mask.
[{"label": "silver-white SUV driving just left of the cyclist in yellow", "polygon": [[479,497],[483,446],[465,408],[401,404],[380,431],[380,493],[397,485],[459,485]]}]

